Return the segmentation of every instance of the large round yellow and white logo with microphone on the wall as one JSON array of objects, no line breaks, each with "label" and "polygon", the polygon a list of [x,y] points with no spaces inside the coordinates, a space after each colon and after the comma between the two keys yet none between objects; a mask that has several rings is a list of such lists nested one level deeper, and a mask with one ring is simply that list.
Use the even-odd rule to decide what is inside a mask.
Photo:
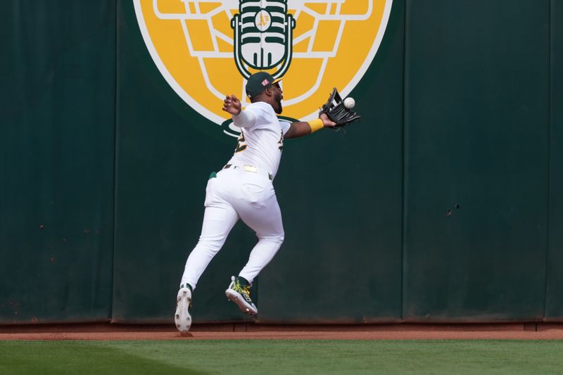
[{"label": "large round yellow and white logo with microphone on the wall", "polygon": [[383,39],[391,4],[134,0],[158,70],[191,108],[217,125],[228,120],[221,110],[225,94],[248,105],[246,78],[258,70],[283,77],[284,116],[316,118],[333,87],[344,97],[360,82]]}]

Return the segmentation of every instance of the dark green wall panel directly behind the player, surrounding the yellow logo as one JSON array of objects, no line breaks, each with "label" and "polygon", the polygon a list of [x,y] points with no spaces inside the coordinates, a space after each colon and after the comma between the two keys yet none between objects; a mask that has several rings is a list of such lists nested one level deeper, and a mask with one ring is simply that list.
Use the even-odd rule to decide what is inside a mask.
[{"label": "dark green wall panel directly behind the player, surrounding the yellow logo", "polygon": [[[124,2],[120,11],[113,319],[170,322],[184,261],[201,229],[205,180],[211,170],[224,165],[234,144],[200,133],[190,123],[205,119],[181,103],[160,77],[143,45],[132,7]],[[381,46],[388,50],[385,61],[353,93],[358,108],[377,102],[377,113],[365,110],[365,119],[346,134],[324,132],[284,146],[275,186],[286,243],[253,289],[262,321],[282,317],[304,322],[311,320],[309,312],[323,311],[325,319],[362,322],[396,319],[400,312],[400,2],[393,11],[391,39]],[[334,158],[304,165],[312,150]],[[311,186],[327,189],[312,200]],[[339,230],[331,222],[338,223]],[[384,234],[365,239],[366,231]],[[230,275],[248,259],[255,241],[242,224],[229,236],[194,293],[195,322],[246,319],[226,303],[224,289]],[[354,262],[348,262],[351,251],[356,253]],[[346,285],[353,283],[355,291],[340,297],[325,295],[324,300],[310,298],[324,291],[327,282],[341,285],[346,293]],[[303,284],[308,285],[305,293]],[[309,301],[301,312],[289,316],[276,304],[296,291]],[[324,307],[343,297],[348,305],[327,314]],[[142,307],[139,298],[146,301]]]}]

